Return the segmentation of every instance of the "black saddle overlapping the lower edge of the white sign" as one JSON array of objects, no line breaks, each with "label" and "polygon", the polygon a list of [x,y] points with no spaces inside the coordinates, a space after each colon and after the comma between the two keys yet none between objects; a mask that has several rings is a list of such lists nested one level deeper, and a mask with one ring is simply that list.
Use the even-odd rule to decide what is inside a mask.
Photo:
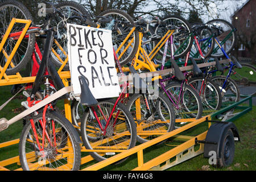
[{"label": "black saddle overlapping the lower edge of the white sign", "polygon": [[90,92],[89,86],[84,76],[79,76],[79,82],[81,86],[80,102],[85,106],[97,106],[98,101],[94,98],[92,92]]}]

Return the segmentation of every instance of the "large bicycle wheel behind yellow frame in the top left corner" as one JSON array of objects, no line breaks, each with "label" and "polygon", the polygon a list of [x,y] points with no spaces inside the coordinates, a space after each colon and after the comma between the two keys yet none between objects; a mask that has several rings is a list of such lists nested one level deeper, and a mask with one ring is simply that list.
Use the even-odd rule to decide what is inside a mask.
[{"label": "large bicycle wheel behind yellow frame in the top left corner", "polygon": [[[3,35],[9,24],[13,18],[17,19],[30,19],[32,22],[34,21],[30,11],[20,2],[9,0],[3,1],[0,3],[0,42],[2,41]],[[23,23],[15,23],[11,32],[19,32],[22,31],[24,28]],[[18,39],[16,38],[7,38],[3,49],[6,51],[7,55],[10,55],[11,51],[15,44],[17,43]],[[11,62],[13,63],[14,67],[9,65],[6,69],[7,75],[14,75],[15,73],[19,72],[22,68],[25,68],[28,61],[31,59],[32,52],[34,51],[35,45],[35,35],[30,34],[28,38],[23,38],[20,42],[18,49],[15,52],[15,55]],[[3,68],[7,59],[1,53],[0,54],[0,65]]]}]

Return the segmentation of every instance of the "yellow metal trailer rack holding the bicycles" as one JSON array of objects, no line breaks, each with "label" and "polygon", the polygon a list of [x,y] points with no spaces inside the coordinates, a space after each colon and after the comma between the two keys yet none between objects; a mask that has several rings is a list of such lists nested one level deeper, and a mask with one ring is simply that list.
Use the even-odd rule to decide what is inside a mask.
[{"label": "yellow metal trailer rack holding the bicycles", "polygon": [[[13,27],[15,22],[25,23],[26,26],[24,27],[22,35],[20,35],[20,38],[18,39],[18,42],[16,43],[13,51],[8,56],[2,50],[2,48],[3,48],[3,45],[5,44],[5,42],[7,40],[7,37],[9,36],[11,28]],[[30,23],[31,23],[31,20],[13,19],[11,21],[9,27],[7,28],[5,36],[3,36],[3,40],[0,43],[0,49],[2,50],[4,55],[6,56],[7,62],[5,64],[5,66],[3,68],[1,68],[0,86],[13,85],[13,84],[23,84],[23,83],[28,83],[28,82],[34,82],[35,81],[35,77],[22,77],[22,76],[20,76],[19,73],[16,73],[16,75],[7,76],[6,73],[5,73],[7,67],[9,66],[9,64],[11,64],[11,60],[13,59],[13,56],[16,52],[16,49],[18,48],[21,40],[23,39],[24,35],[26,34],[26,31],[28,30],[28,27],[30,26]],[[171,32],[171,34],[172,34],[172,32]],[[171,35],[169,35],[165,39],[167,40],[170,36]],[[131,41],[133,41],[133,40],[131,40]],[[58,45],[57,42],[55,42],[55,43]],[[65,53],[63,48],[61,48],[60,45],[58,45],[58,46],[61,49],[61,51],[63,51],[64,55],[67,56],[67,53]],[[163,44],[162,44],[162,46],[163,46]],[[58,57],[57,53],[54,50],[53,50],[53,53],[55,53],[55,55]],[[154,56],[154,53],[152,53],[151,56]],[[60,59],[60,57],[59,57],[59,59]],[[70,78],[70,72],[69,71],[62,71],[62,69],[64,68],[64,65],[67,64],[67,62],[68,62],[68,56],[66,57],[65,61],[62,61],[63,65],[61,65],[61,67],[58,71],[58,73],[59,73],[61,79],[63,80],[65,86],[69,85],[69,82],[68,82],[67,79]],[[189,68],[191,69],[191,67],[188,67],[187,69],[189,69]],[[173,71],[172,71],[172,69],[168,69],[168,70],[165,70],[165,72],[163,72],[163,73],[166,73],[166,72],[171,73]],[[161,71],[155,72],[155,70],[152,73],[158,73],[159,75],[163,74]],[[72,121],[70,101],[65,100],[64,101],[64,107],[65,107],[65,117],[69,121]],[[210,115],[207,115],[206,117],[203,117],[203,118],[200,118],[200,119],[194,119],[194,118],[191,118],[191,119],[176,119],[176,122],[188,122],[188,124],[183,126],[183,127],[180,127],[179,129],[173,130],[169,133],[167,133],[167,132],[161,132],[161,133],[156,132],[156,133],[154,133],[154,131],[153,131],[150,134],[157,134],[157,135],[160,135],[160,137],[152,139],[152,140],[150,140],[146,143],[139,144],[138,146],[135,146],[134,148],[131,148],[129,150],[126,150],[126,148],[117,149],[117,148],[114,148],[114,147],[112,149],[109,149],[109,150],[102,150],[100,148],[95,149],[95,150],[88,150],[84,146],[81,145],[81,152],[93,152],[93,151],[95,151],[95,152],[96,151],[97,152],[98,151],[119,152],[119,154],[117,154],[117,155],[115,155],[115,156],[113,156],[109,159],[106,159],[102,162],[98,162],[96,164],[93,164],[92,166],[85,167],[82,170],[98,170],[98,169],[104,168],[106,166],[109,166],[110,164],[113,164],[113,163],[117,162],[118,160],[121,160],[121,159],[126,158],[127,156],[130,156],[130,155],[133,155],[133,154],[137,154],[137,158],[138,158],[138,167],[134,168],[133,170],[163,170],[163,169],[167,169],[171,166],[174,166],[177,163],[183,162],[184,160],[187,160],[189,158],[192,158],[193,156],[196,156],[196,155],[199,155],[199,154],[203,153],[204,144],[201,144],[201,143],[200,143],[200,149],[195,151],[195,149],[194,149],[194,146],[196,144],[195,143],[195,138],[197,138],[199,140],[205,139],[207,131],[205,131],[204,133],[201,133],[199,135],[196,135],[195,137],[180,135],[180,133],[182,133],[183,131],[185,131],[187,129],[192,128],[193,126],[196,126],[196,125],[199,125],[200,123],[205,122],[205,120],[207,118],[210,119]],[[149,133],[147,133],[147,135],[149,135]],[[145,163],[144,158],[143,158],[143,150],[148,148],[148,147],[153,146],[156,143],[162,142],[163,140],[166,140],[168,138],[174,138],[174,140],[183,140],[185,142],[183,142],[182,144],[176,146],[175,148],[173,148],[173,149],[165,152],[164,154],[159,155],[158,157],[156,157],[156,158],[154,158],[154,159]],[[0,148],[12,146],[12,145],[18,144],[18,143],[19,143],[19,139],[14,139],[14,140],[11,140],[11,141],[8,141],[8,142],[0,143]],[[185,154],[184,154],[184,151],[185,151]],[[172,158],[176,158],[176,160],[174,162],[170,162],[170,159],[172,159]],[[84,156],[84,157],[81,158],[81,164],[86,164],[86,163],[89,163],[93,160],[94,159],[92,158],[92,156],[87,155],[87,156]],[[19,156],[14,156],[13,158],[9,158],[9,159],[0,161],[0,171],[2,171],[2,170],[8,171],[9,169],[7,169],[6,166],[9,166],[10,164],[15,164],[15,163],[17,163],[19,165]],[[18,168],[18,169],[15,169],[15,170],[19,171],[19,170],[22,170],[22,168]]]}]

